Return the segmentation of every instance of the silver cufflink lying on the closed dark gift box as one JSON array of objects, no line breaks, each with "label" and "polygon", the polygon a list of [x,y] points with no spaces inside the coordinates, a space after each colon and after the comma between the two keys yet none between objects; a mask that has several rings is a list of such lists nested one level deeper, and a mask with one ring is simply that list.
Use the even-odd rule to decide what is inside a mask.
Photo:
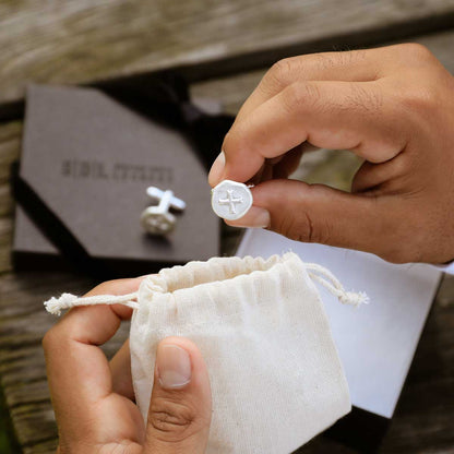
[{"label": "silver cufflink lying on the closed dark gift box", "polygon": [[186,202],[174,195],[170,190],[162,191],[159,188],[146,189],[148,196],[158,202],[158,205],[148,206],[141,214],[142,227],[152,235],[167,235],[175,229],[177,218],[169,212],[170,208],[182,211]]}]

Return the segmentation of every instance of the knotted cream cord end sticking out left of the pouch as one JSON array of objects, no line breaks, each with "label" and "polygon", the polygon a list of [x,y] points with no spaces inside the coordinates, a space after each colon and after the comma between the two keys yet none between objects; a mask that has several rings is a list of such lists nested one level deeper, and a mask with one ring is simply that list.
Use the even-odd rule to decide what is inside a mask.
[{"label": "knotted cream cord end sticking out left of the pouch", "polygon": [[62,294],[60,298],[50,298],[44,303],[47,312],[53,315],[60,315],[64,309],[75,308],[77,306],[96,306],[96,304],[123,304],[128,308],[139,309],[138,292],[128,295],[94,295],[93,297],[79,298],[72,294]]}]

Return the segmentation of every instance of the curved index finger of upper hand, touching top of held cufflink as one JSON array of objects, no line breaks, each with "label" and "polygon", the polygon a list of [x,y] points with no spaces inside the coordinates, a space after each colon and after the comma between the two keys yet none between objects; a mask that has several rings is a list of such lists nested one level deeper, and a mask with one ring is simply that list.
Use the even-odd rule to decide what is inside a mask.
[{"label": "curved index finger of upper hand, touching top of held cufflink", "polygon": [[224,140],[224,163],[215,162],[210,183],[246,182],[266,158],[306,141],[321,148],[350,150],[372,163],[392,159],[406,146],[409,130],[385,91],[385,84],[378,82],[288,86],[232,126]]}]

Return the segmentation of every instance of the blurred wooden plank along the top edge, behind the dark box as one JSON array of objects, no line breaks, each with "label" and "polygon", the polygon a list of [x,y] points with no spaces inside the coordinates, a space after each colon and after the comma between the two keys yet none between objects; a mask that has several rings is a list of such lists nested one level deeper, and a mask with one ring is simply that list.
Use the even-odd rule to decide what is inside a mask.
[{"label": "blurred wooden plank along the top edge, behind the dark box", "polygon": [[454,0],[1,2],[0,104],[3,116],[17,115],[31,81],[81,84],[167,68],[194,81],[453,23]]}]

